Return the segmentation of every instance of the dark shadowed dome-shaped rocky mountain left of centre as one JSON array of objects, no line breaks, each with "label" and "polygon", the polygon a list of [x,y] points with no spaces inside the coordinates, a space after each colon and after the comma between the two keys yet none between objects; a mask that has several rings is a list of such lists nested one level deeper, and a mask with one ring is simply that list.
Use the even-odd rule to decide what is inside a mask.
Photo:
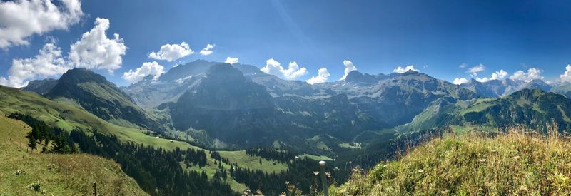
[{"label": "dark shadowed dome-shaped rocky mountain left of centre", "polygon": [[204,129],[232,143],[248,143],[272,131],[273,99],[263,86],[228,63],[211,66],[205,76],[196,90],[169,105],[175,128]]}]

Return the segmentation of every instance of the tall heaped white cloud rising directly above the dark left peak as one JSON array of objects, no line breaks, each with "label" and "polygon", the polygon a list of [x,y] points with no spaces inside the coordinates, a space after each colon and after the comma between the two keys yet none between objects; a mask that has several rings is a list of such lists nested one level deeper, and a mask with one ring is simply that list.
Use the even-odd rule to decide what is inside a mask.
[{"label": "tall heaped white cloud rising directly above the dark left peak", "polygon": [[121,68],[127,47],[117,33],[113,34],[113,39],[107,38],[109,25],[108,19],[95,19],[94,29],[84,33],[79,41],[70,46],[69,59],[74,66],[106,69],[109,72]]}]

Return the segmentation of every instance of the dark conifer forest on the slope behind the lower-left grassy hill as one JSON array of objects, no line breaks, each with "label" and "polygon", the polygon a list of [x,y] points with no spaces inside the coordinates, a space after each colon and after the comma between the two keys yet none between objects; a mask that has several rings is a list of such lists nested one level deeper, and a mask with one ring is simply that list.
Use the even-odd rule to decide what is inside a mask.
[{"label": "dark conifer forest on the slope behind the lower-left grassy hill", "polygon": [[218,178],[208,180],[204,171],[182,169],[181,163],[206,166],[204,150],[164,150],[132,142],[122,143],[116,135],[105,135],[97,130],[93,130],[92,135],[86,135],[81,130],[68,133],[30,115],[14,113],[8,117],[22,120],[32,127],[31,133],[26,136],[31,148],[37,143],[54,143],[53,148],[44,150],[45,153],[75,153],[81,150],[81,153],[111,158],[136,180],[141,189],[151,195],[238,195],[228,183]]}]

